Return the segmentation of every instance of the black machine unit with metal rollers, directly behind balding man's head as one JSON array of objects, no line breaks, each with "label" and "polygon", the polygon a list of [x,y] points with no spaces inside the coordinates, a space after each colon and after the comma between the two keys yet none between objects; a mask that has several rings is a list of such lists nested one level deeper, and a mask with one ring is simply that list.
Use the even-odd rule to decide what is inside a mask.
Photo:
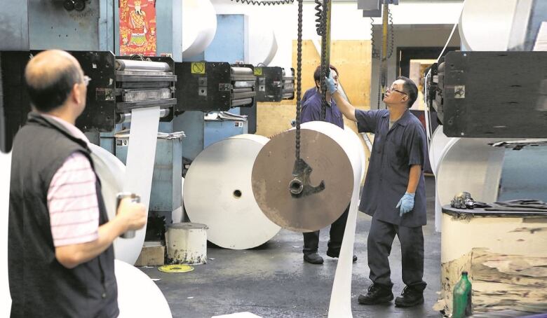
[{"label": "black machine unit with metal rollers, directly behind balding man's head", "polygon": [[[23,74],[29,58],[37,53],[39,50],[0,53],[2,70],[11,75],[3,78],[8,136],[25,123],[30,111]],[[130,121],[135,108],[160,106],[162,121],[173,120],[173,115],[182,112],[175,97],[177,76],[170,57],[147,57],[144,61],[102,51],[69,53],[91,78],[86,109],[76,121],[84,132],[114,132],[116,124]]]}]

